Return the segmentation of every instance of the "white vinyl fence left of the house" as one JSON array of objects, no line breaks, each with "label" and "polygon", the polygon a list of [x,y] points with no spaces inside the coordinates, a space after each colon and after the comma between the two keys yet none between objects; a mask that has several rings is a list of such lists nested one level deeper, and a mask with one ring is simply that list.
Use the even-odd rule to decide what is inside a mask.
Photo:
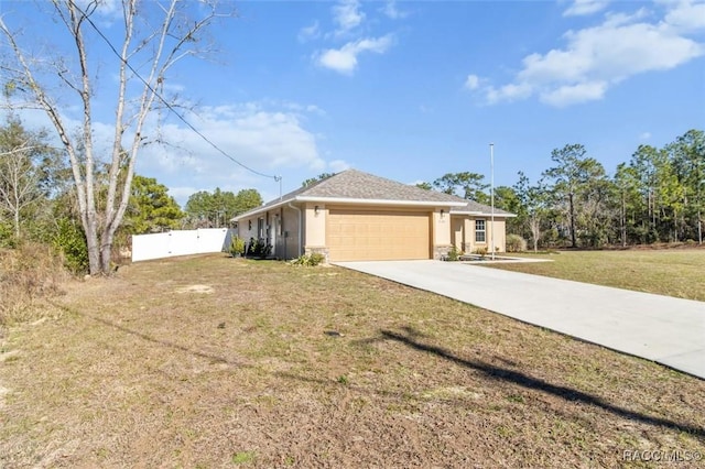
[{"label": "white vinyl fence left of the house", "polygon": [[232,233],[227,228],[174,230],[165,233],[132,237],[132,262],[175,255],[220,252],[230,246]]}]

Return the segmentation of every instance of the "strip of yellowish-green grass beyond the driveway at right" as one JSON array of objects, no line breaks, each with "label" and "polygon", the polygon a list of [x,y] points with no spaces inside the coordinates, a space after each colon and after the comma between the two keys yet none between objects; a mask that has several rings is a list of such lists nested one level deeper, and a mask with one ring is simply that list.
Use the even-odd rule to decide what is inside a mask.
[{"label": "strip of yellowish-green grass beyond the driveway at right", "polygon": [[553,262],[482,265],[705,302],[705,249],[561,251],[520,255]]}]

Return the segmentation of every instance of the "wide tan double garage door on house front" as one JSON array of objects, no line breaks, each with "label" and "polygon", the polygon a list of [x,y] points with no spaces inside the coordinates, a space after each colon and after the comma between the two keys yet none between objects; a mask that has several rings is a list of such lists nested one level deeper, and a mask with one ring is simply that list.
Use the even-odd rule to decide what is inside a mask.
[{"label": "wide tan double garage door on house front", "polygon": [[426,212],[330,209],[326,246],[332,261],[430,259]]}]

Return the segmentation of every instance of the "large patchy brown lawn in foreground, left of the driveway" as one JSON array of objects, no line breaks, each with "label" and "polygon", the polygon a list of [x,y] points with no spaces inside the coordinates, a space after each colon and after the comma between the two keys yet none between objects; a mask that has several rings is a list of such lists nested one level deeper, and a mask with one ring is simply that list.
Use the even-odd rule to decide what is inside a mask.
[{"label": "large patchy brown lawn in foreground, left of the driveway", "polygon": [[144,262],[69,284],[57,304],[0,338],[0,467],[705,454],[705,381],[339,268]]}]

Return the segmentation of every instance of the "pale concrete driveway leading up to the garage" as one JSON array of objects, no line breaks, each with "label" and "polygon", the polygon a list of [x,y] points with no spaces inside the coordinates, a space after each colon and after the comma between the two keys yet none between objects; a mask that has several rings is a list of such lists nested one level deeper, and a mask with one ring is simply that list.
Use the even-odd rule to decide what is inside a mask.
[{"label": "pale concrete driveway leading up to the garage", "polygon": [[337,265],[426,290],[705,379],[705,303],[460,262]]}]

